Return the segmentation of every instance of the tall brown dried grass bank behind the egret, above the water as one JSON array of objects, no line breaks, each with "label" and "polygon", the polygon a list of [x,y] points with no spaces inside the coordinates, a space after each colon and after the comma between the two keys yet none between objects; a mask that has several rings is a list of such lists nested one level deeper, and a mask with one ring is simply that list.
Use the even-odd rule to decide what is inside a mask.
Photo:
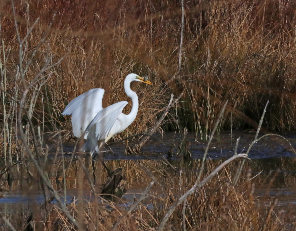
[{"label": "tall brown dried grass bank behind the egret, above the water", "polygon": [[[22,83],[16,79],[19,53],[12,7],[10,2],[1,7],[1,60],[6,70],[1,86],[8,93],[17,92],[19,99],[21,91],[15,85],[22,89]],[[184,7],[178,72],[179,2],[43,1],[37,6],[31,1],[16,2],[21,38],[40,17],[25,42],[23,62],[33,57],[26,81],[36,76],[49,55],[56,62],[67,54],[47,71],[51,76],[37,97],[34,122],[43,121],[44,114],[50,130],[52,126],[70,130],[70,118],[64,121],[60,116],[70,100],[94,87],[105,89],[104,106],[127,100],[122,83],[126,74],[134,72],[149,74],[155,87],[136,86],[140,88],[135,89],[140,96],[139,116],[120,136],[150,127],[170,93],[181,91],[185,93],[182,108],[171,110],[174,117],[165,129],[187,126],[207,135],[226,100],[229,106],[221,128],[256,126],[254,121],[269,100],[263,125],[271,130],[295,130],[295,3],[187,1]],[[33,96],[33,91],[28,94]],[[5,94],[0,101],[1,109],[4,102],[6,107],[12,105]]]}]

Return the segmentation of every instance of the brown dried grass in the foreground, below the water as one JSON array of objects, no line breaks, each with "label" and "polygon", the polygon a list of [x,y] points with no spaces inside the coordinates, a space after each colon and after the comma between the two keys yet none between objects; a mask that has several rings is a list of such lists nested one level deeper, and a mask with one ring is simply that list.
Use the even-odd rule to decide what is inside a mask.
[{"label": "brown dried grass in the foreground, below the water", "polygon": [[[164,161],[140,162],[140,164],[124,160],[108,162],[110,167],[120,167],[126,170],[128,187],[143,188],[144,190],[151,181],[149,175],[143,171],[140,165],[146,166],[157,179],[156,185],[149,192],[149,197],[140,203],[116,230],[156,230],[164,214],[173,203],[192,187],[198,174],[196,169],[200,169],[199,160],[171,162],[177,171],[182,170],[178,174]],[[221,164],[221,160],[208,160],[205,164],[206,171],[202,174],[202,178]],[[190,196],[186,200],[185,213],[183,214],[182,204],[169,219],[166,230],[182,230],[184,216],[187,230],[285,230],[285,228],[291,230],[289,227],[295,225],[292,216],[295,208],[292,205],[279,206],[277,204],[281,200],[279,196],[258,197],[254,192],[257,187],[268,192],[273,187],[272,182],[276,180],[277,176],[274,175],[268,181],[266,181],[265,174],[250,179],[255,176],[250,169],[239,180],[240,186],[233,187],[231,182],[236,168],[237,163],[235,162],[226,166],[215,178],[207,182],[205,187]],[[30,170],[34,172],[32,168]],[[257,169],[254,170],[257,171]],[[67,177],[77,177],[77,170],[73,169],[69,174]],[[105,174],[103,171],[101,177]],[[85,187],[87,186],[85,185]],[[67,188],[71,188],[71,186],[68,185]],[[72,203],[67,205],[67,209],[75,219],[83,224],[85,230],[95,230],[95,227],[100,230],[111,230],[115,222],[126,213],[125,206],[118,201],[113,203],[100,198],[100,202],[95,205],[96,203],[92,199],[85,199],[82,202],[75,198]],[[37,208],[40,209],[40,207],[36,207],[27,212],[18,211],[9,220],[16,230],[24,230],[26,221],[31,214],[30,226],[33,227],[33,230],[39,228],[76,230],[57,205],[52,204],[49,207],[47,216],[43,209],[41,209],[42,213],[37,213],[35,211]],[[98,208],[97,214],[96,208]],[[81,209],[83,209],[82,213]]]}]

